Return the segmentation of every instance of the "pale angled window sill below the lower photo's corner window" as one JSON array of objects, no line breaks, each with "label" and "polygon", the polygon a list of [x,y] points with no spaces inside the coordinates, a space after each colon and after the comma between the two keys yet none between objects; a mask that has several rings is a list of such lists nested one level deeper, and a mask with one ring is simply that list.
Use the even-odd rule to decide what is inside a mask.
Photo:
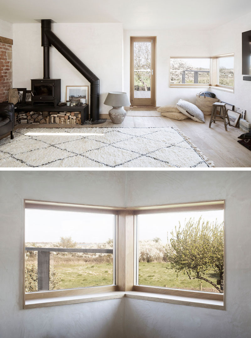
[{"label": "pale angled window sill below the lower photo's corner window", "polygon": [[225,310],[224,303],[221,300],[201,299],[184,296],[164,295],[149,292],[136,292],[136,291],[115,291],[115,292],[102,292],[96,294],[76,295],[76,296],[59,296],[50,298],[36,298],[25,301],[24,309],[41,308],[47,306],[87,303],[90,301],[117,299],[117,298],[133,298],[141,300],[158,301],[161,303],[171,303],[179,305],[190,305],[201,308],[210,308]]}]

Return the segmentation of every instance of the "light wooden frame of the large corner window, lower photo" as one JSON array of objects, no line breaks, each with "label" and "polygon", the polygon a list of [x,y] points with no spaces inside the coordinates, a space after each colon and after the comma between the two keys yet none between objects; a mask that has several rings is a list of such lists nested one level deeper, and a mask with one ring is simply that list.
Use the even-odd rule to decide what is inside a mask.
[{"label": "light wooden frame of the large corner window, lower photo", "polygon": [[[115,236],[115,284],[108,286],[83,287],[64,290],[35,291],[25,293],[25,206],[39,210],[68,210],[116,215]],[[221,209],[219,209],[221,208]],[[183,211],[225,210],[225,200],[200,201],[141,207],[106,207],[65,202],[24,200],[23,217],[23,309],[83,303],[88,301],[122,297],[161,301],[212,309],[225,310],[226,274],[224,293],[189,291],[171,288],[137,285],[137,215],[183,212]],[[225,271],[225,220],[224,220],[224,271]]]}]

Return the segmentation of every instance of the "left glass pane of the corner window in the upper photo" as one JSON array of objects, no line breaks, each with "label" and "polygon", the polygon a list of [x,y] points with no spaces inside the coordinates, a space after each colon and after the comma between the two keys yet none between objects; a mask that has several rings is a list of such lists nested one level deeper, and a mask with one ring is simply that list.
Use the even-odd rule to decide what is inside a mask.
[{"label": "left glass pane of the corner window in the upper photo", "polygon": [[210,58],[171,58],[170,83],[210,83]]}]

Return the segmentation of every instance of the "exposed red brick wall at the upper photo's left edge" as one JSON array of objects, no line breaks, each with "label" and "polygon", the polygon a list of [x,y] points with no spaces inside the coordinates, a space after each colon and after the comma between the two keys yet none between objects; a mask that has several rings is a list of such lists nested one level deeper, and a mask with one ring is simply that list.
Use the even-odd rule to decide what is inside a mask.
[{"label": "exposed red brick wall at the upper photo's left edge", "polygon": [[0,42],[0,102],[8,100],[12,88],[12,46]]}]

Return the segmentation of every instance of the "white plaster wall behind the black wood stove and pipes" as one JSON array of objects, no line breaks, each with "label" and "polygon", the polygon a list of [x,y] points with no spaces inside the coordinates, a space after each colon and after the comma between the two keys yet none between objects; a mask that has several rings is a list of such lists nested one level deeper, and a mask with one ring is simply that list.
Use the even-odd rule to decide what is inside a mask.
[{"label": "white plaster wall behind the black wood stove and pipes", "polygon": [[[120,23],[56,23],[52,31],[100,79],[100,112],[110,91],[123,87],[123,27]],[[13,86],[30,89],[30,79],[43,78],[41,24],[13,25]],[[61,79],[61,100],[66,86],[90,83],[54,47],[50,48],[50,78]]]}]

